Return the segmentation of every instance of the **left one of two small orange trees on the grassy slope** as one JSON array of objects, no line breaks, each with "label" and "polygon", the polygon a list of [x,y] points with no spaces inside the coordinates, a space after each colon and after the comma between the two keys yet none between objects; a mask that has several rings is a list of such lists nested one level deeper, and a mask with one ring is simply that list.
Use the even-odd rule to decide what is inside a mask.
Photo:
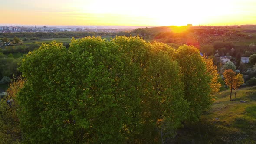
[{"label": "left one of two small orange trees on the grassy slope", "polygon": [[232,69],[227,69],[223,73],[223,76],[225,78],[224,81],[226,85],[230,88],[230,101],[231,101],[232,88],[233,88],[233,83],[236,77],[236,72],[234,72]]}]

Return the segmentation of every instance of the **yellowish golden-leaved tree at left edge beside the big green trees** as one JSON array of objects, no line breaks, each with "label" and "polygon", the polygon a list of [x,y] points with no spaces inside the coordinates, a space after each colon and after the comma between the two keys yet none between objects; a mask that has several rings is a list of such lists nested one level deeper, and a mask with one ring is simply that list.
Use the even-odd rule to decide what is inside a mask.
[{"label": "yellowish golden-leaved tree at left edge beside the big green trees", "polygon": [[24,80],[13,79],[7,89],[7,96],[0,102],[0,144],[13,144],[21,141],[19,105],[17,94],[24,86]]}]

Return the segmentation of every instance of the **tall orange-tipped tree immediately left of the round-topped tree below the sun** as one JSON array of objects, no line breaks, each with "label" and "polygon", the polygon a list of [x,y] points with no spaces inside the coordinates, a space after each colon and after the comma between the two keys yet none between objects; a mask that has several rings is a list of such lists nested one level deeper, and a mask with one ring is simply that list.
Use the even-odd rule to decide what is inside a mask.
[{"label": "tall orange-tipped tree immediately left of the round-topped tree below the sun", "polygon": [[[154,127],[149,130],[157,129],[162,143],[174,137],[181,122],[187,119],[189,109],[188,102],[184,100],[184,84],[181,82],[179,65],[174,60],[174,55],[171,47],[163,43],[153,43],[145,72],[149,94],[143,108],[147,111],[144,121],[154,122]],[[146,128],[150,128],[149,125]]]}]

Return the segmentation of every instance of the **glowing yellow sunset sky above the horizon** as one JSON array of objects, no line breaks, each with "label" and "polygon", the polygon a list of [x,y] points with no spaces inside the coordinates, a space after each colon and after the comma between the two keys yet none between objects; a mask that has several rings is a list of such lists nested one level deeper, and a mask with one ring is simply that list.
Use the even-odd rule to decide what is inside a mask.
[{"label": "glowing yellow sunset sky above the horizon", "polygon": [[256,0],[1,0],[0,25],[256,24]]}]

